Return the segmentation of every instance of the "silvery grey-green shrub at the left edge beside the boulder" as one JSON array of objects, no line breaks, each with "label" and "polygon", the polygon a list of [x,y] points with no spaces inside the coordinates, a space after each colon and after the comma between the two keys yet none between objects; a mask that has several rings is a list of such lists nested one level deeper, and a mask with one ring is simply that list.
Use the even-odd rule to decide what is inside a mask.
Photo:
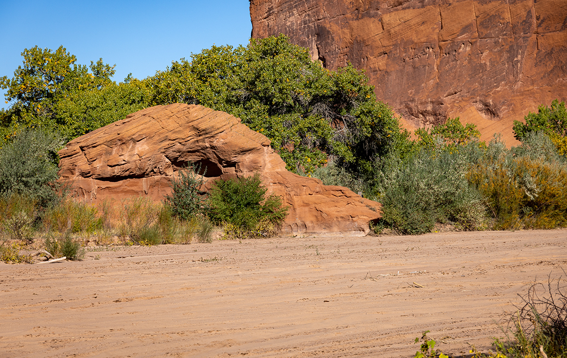
[{"label": "silvery grey-green shrub at the left edge beside the boulder", "polygon": [[57,150],[62,140],[41,130],[23,130],[0,149],[0,195],[18,194],[41,208],[56,202]]}]

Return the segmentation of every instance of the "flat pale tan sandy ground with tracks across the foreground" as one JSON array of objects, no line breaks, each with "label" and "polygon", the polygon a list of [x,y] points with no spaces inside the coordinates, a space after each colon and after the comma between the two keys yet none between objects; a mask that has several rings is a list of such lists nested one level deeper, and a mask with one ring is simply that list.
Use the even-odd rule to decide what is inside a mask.
[{"label": "flat pale tan sandy ground with tracks across the foreground", "polygon": [[563,274],[566,245],[566,230],[308,236],[0,264],[0,357],[410,357],[424,330],[469,356],[534,279]]}]

